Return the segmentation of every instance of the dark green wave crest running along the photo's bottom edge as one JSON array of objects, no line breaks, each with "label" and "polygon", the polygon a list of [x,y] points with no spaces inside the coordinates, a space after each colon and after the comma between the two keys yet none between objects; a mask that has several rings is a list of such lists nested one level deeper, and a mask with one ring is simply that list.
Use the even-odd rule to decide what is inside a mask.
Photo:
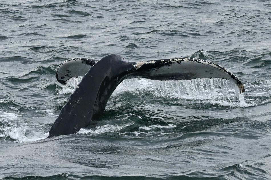
[{"label": "dark green wave crest running along the photo's bottom edge", "polygon": [[[138,180],[138,179],[149,179],[149,180],[162,180],[162,179],[170,179],[170,180],[179,180],[179,179],[189,179],[189,180],[199,180],[199,179],[223,179],[223,180],[237,180],[237,179],[269,179],[268,173],[260,168],[254,168],[250,165],[242,165],[242,164],[234,164],[229,166],[230,170],[188,170],[182,172],[168,172],[159,174],[148,173],[146,175],[141,175],[141,173],[125,173],[125,175],[74,175],[72,173],[61,173],[57,175],[50,176],[7,176],[4,177],[3,180],[33,180],[33,179],[99,179],[99,180]],[[118,174],[118,173],[116,173]],[[1,176],[0,176],[1,177]]]}]

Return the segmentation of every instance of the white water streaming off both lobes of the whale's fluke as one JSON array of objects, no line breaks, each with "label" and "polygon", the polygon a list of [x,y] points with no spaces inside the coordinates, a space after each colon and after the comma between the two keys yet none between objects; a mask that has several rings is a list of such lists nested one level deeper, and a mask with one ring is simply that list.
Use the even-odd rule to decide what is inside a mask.
[{"label": "white water streaming off both lobes of the whale's fluke", "polygon": [[[67,85],[62,86],[58,94],[70,94],[76,89],[82,77],[71,78]],[[149,80],[144,78],[125,79],[113,92],[112,96],[130,91],[139,96],[145,92],[155,97],[193,101],[212,105],[247,107],[244,94],[239,94],[238,87],[230,80],[221,78],[201,78],[193,80]]]}]

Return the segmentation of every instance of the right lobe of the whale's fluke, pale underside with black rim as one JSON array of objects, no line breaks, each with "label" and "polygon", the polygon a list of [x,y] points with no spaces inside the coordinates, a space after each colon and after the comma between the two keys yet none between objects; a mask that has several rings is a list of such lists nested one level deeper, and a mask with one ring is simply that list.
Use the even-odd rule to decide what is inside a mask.
[{"label": "right lobe of the whale's fluke, pale underside with black rim", "polygon": [[223,78],[232,80],[244,92],[241,81],[226,68],[202,59],[172,58],[136,63],[133,77],[154,80],[191,80],[196,78]]}]

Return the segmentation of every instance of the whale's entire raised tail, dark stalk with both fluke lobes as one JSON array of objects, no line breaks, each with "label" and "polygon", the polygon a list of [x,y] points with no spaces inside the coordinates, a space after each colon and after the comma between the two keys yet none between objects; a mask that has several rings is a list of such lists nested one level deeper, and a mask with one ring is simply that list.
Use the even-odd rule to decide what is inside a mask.
[{"label": "whale's entire raised tail, dark stalk with both fluke lobes", "polygon": [[172,58],[129,62],[124,57],[110,54],[101,60],[73,58],[61,63],[56,79],[65,84],[71,77],[83,76],[82,81],[62,107],[53,123],[49,137],[68,135],[100,118],[108,99],[125,78],[154,80],[191,80],[195,78],[224,78],[235,82],[244,92],[241,81],[216,63],[194,58]]}]

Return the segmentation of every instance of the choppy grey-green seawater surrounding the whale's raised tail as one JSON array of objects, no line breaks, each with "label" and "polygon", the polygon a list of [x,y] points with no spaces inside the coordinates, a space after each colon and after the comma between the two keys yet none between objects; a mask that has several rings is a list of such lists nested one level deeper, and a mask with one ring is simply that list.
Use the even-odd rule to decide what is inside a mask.
[{"label": "choppy grey-green seawater surrounding the whale's raised tail", "polygon": [[[80,82],[56,67],[110,53],[210,60],[246,92],[124,80],[99,121],[46,138]],[[0,62],[0,179],[271,179],[269,0],[2,0]]]}]

